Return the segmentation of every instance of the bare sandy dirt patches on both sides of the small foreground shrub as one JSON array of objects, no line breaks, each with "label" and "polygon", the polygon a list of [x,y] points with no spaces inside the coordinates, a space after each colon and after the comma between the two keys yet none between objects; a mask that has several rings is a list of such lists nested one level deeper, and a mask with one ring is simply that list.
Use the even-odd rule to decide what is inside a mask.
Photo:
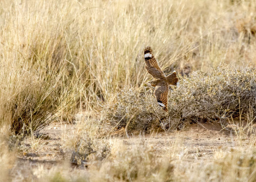
[{"label": "bare sandy dirt patches on both sides of the small foreground shrub", "polygon": [[[32,138],[25,140],[23,152],[19,153],[12,170],[12,176],[18,180],[26,180],[26,176],[35,176],[33,168],[50,169],[61,164],[64,159],[61,135],[72,132],[73,125],[52,124],[44,131],[43,138],[35,141]],[[147,135],[125,136],[122,138],[128,147],[143,142],[152,145],[160,153],[173,147],[178,155],[173,155],[174,162],[186,156],[185,161],[189,163],[209,160],[216,150],[232,150],[238,145],[236,136],[227,130],[221,130],[218,124],[189,124],[182,131],[160,132]],[[249,141],[244,140],[242,145]],[[180,152],[178,151],[180,150]],[[72,170],[84,170],[84,168],[73,167]],[[18,177],[17,177],[18,176]]]}]

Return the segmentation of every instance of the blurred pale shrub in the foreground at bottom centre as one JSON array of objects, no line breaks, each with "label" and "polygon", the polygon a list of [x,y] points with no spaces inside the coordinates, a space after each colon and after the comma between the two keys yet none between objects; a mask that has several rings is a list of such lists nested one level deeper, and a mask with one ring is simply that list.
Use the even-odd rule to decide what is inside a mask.
[{"label": "blurred pale shrub in the foreground at bottom centre", "polygon": [[[173,178],[173,165],[168,157],[160,157],[153,147],[143,145],[131,149],[118,145],[108,160],[99,167],[89,167],[92,181],[166,182]],[[96,175],[97,174],[97,175]]]}]

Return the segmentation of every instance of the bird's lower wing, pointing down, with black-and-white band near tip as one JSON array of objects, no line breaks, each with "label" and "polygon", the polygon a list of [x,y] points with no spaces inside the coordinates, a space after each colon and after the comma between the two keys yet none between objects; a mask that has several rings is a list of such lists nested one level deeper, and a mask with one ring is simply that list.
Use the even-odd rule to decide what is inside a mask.
[{"label": "bird's lower wing, pointing down, with black-and-white band near tip", "polygon": [[169,93],[169,85],[165,81],[160,82],[157,84],[154,95],[157,98],[157,103],[160,105],[160,107],[163,108],[166,112],[168,111],[168,93]]}]

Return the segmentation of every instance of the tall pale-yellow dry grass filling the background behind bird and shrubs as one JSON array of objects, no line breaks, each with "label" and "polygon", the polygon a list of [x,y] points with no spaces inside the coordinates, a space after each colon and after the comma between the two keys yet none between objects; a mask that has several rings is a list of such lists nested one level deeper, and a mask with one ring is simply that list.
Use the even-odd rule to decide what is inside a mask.
[{"label": "tall pale-yellow dry grass filling the background behind bird and shrubs", "polygon": [[16,133],[46,126],[56,112],[72,121],[76,109],[99,108],[119,87],[142,86],[151,78],[143,68],[146,45],[166,73],[255,64],[250,1],[2,4],[1,118]]}]

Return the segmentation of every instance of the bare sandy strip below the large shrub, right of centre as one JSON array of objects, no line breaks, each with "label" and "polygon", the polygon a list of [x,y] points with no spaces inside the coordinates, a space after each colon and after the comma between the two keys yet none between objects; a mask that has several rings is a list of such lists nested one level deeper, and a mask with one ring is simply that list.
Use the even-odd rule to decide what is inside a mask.
[{"label": "bare sandy strip below the large shrub, right of centre", "polygon": [[[232,150],[238,146],[237,139],[233,133],[221,130],[218,124],[189,124],[182,131],[173,133],[154,133],[140,137],[131,137],[123,141],[127,145],[144,140],[147,144],[153,145],[158,150],[170,150],[169,147],[176,147],[181,150],[179,157],[186,155],[186,160],[195,161],[211,158],[216,150]],[[246,145],[247,141],[243,142]],[[175,150],[172,150],[175,151]],[[185,151],[185,153],[184,153]],[[178,152],[178,151],[177,151]]]}]

